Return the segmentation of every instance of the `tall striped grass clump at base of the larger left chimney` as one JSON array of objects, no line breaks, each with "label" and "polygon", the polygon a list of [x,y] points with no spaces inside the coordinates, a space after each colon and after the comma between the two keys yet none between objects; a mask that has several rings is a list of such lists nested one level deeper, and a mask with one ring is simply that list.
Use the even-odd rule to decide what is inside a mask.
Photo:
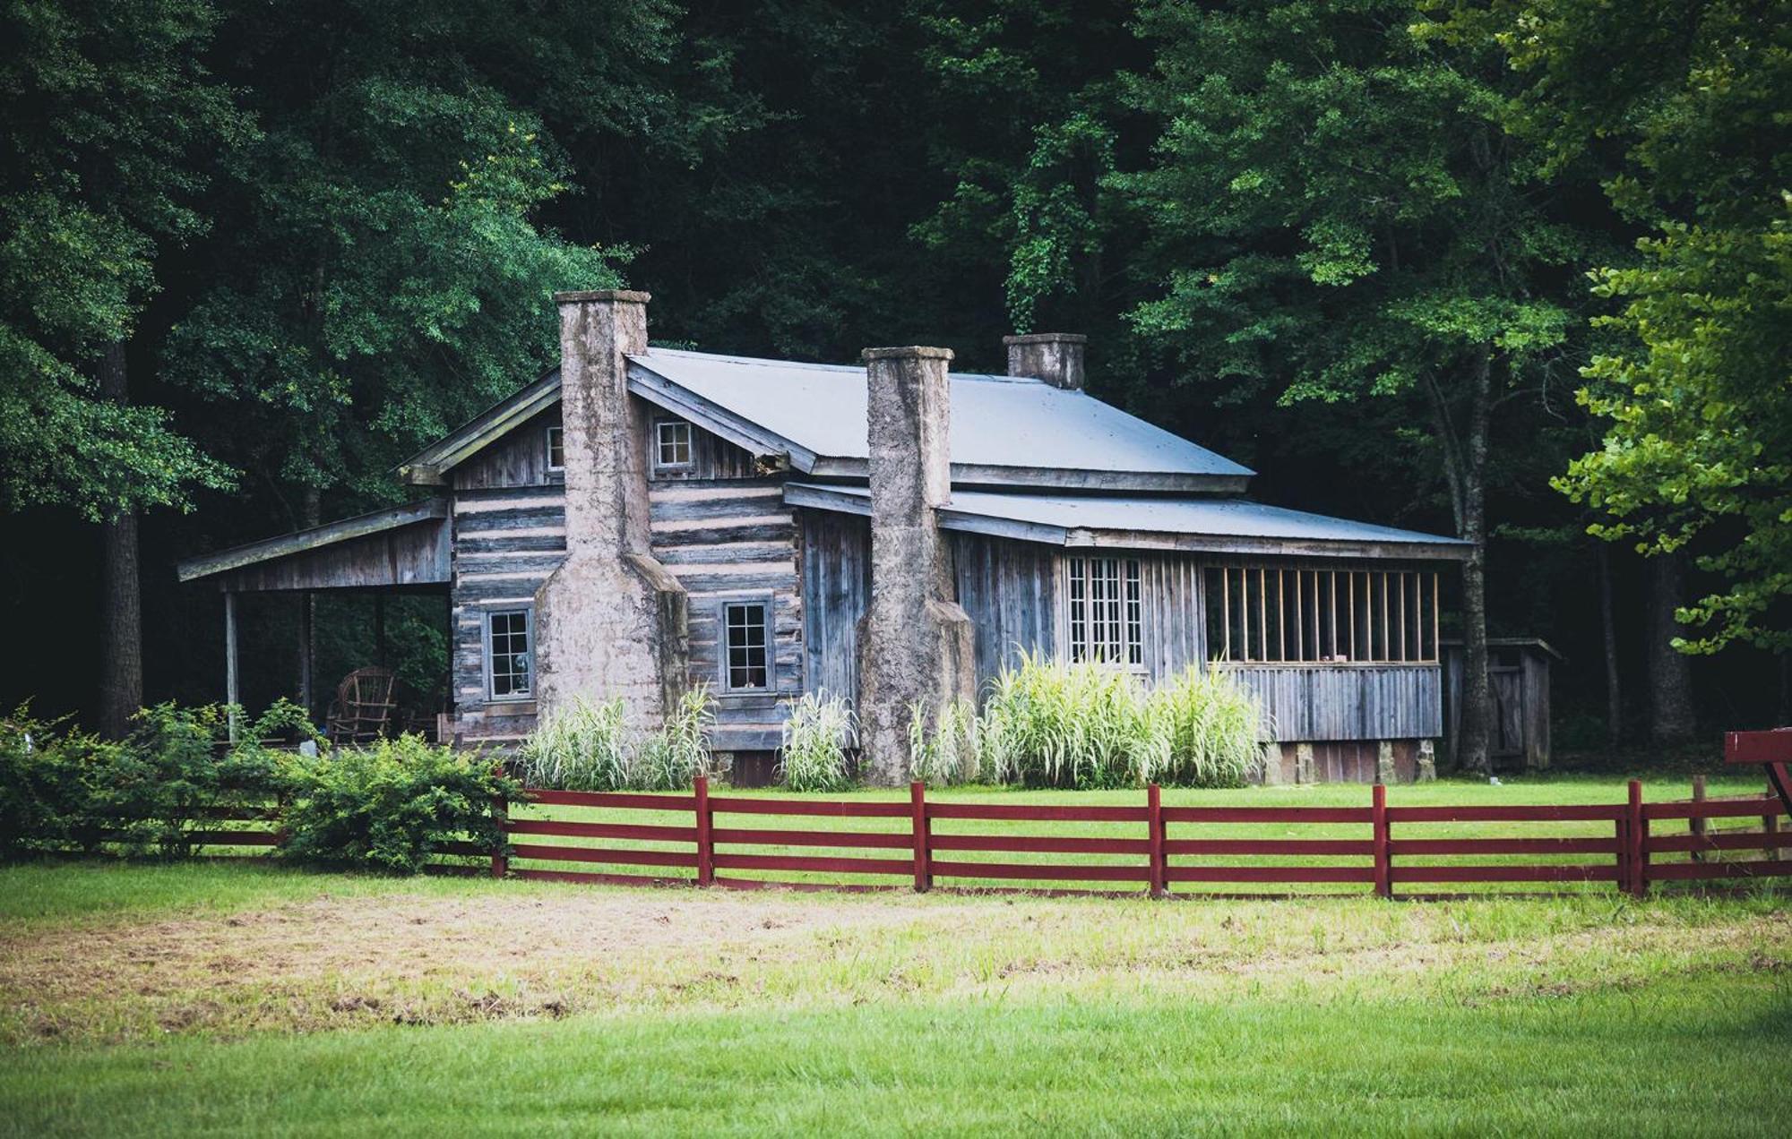
[{"label": "tall striped grass clump at base of the larger left chimney", "polygon": [[636,732],[622,698],[573,700],[538,727],[516,756],[523,783],[568,792],[665,792],[711,774],[710,691],[688,689],[665,727]]}]

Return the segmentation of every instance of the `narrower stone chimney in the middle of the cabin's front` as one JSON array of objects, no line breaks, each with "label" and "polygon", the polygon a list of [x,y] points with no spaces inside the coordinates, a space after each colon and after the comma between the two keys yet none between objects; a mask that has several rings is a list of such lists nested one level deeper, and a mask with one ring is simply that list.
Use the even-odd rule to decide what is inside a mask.
[{"label": "narrower stone chimney in the middle of the cabin's front", "polygon": [[952,500],[952,401],[943,347],[866,349],[871,602],[858,623],[866,775],[909,781],[910,709],[973,698],[971,618],[959,607],[937,507]]}]

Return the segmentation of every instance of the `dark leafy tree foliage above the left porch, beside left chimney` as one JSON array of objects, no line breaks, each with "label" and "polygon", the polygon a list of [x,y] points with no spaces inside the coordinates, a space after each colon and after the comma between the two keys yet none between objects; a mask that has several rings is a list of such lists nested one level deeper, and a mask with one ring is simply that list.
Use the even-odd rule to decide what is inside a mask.
[{"label": "dark leafy tree foliage above the left porch, beside left chimney", "polygon": [[219,66],[262,136],[220,188],[226,220],[165,360],[237,408],[219,446],[315,523],[324,491],[389,500],[396,458],[530,380],[556,288],[620,281],[609,253],[538,224],[570,186],[529,102],[636,129],[634,61],[663,50],[668,13],[228,11]]}]

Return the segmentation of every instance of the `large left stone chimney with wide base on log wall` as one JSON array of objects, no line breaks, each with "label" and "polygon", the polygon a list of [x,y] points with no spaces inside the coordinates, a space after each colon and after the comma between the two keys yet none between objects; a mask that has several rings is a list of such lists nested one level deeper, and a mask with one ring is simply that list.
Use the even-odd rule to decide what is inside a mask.
[{"label": "large left stone chimney with wide base on log wall", "polygon": [[647,423],[629,353],[647,351],[647,294],[554,295],[561,317],[566,561],[536,591],[536,698],[552,720],[573,698],[622,697],[658,727],[686,682],[685,587],[647,537]]}]

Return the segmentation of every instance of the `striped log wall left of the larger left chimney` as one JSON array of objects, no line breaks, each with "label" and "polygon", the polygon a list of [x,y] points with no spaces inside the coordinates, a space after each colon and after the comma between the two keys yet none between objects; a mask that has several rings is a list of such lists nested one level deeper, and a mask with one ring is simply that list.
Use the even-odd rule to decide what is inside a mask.
[{"label": "striped log wall left of the larger left chimney", "polygon": [[566,494],[559,484],[455,494],[450,657],[453,727],[462,740],[514,743],[534,729],[534,700],[486,698],[484,621],[496,609],[534,609],[536,589],[564,557]]}]

